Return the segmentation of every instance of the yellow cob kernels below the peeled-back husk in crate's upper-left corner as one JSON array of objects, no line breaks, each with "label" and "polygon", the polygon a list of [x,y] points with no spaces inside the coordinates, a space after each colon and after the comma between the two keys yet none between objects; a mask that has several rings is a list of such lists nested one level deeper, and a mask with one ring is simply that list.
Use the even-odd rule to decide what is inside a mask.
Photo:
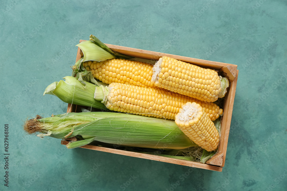
[{"label": "yellow cob kernels below the peeled-back husk in crate's upper-left corner", "polygon": [[151,83],[152,64],[114,58],[101,62],[83,62],[83,66],[92,72],[94,78],[106,84],[118,82],[140,87],[154,87]]}]

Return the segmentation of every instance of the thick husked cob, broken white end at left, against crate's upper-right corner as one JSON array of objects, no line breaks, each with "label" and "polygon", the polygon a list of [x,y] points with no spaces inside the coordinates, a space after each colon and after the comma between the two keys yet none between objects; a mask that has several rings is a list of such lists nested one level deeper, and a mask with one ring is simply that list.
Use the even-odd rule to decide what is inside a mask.
[{"label": "thick husked cob, broken white end at left, against crate's upper-right corner", "polygon": [[[214,102],[224,97],[227,87],[215,70],[201,68],[164,56],[153,67],[152,83],[155,86],[195,99]],[[223,80],[227,80],[224,78]],[[228,85],[229,86],[229,83]]]}]

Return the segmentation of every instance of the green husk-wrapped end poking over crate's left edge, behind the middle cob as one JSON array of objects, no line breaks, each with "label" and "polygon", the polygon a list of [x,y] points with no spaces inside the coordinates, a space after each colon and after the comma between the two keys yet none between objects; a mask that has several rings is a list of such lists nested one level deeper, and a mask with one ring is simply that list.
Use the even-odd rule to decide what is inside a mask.
[{"label": "green husk-wrapped end poking over crate's left edge, behind the middle cob", "polygon": [[106,85],[98,82],[98,85],[86,82],[84,86],[79,80],[72,76],[64,77],[65,81],[53,82],[46,89],[43,95],[52,94],[65,103],[94,107],[108,111],[100,101],[94,99],[94,92],[99,85]]}]

